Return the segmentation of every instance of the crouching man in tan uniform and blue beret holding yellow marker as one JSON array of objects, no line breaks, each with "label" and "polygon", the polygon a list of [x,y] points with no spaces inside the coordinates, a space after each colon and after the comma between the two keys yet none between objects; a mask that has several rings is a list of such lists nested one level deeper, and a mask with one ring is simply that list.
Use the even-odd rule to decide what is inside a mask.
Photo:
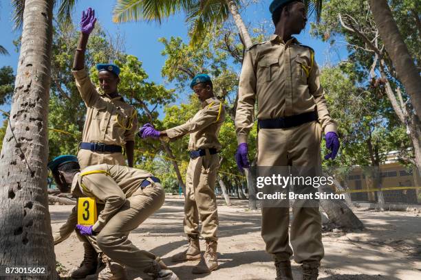
[{"label": "crouching man in tan uniform and blue beret holding yellow marker", "polygon": [[111,259],[148,273],[156,280],[178,277],[160,259],[128,239],[164,203],[160,180],[151,173],[122,165],[91,165],[80,171],[76,156],[58,156],[49,163],[58,188],[76,198],[95,198],[104,208],[92,226],[76,228]]}]

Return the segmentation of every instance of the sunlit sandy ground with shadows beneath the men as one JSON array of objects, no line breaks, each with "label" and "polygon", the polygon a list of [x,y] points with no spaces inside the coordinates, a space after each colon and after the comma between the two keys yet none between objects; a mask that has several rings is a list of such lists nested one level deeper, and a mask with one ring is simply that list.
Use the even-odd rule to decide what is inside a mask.
[{"label": "sunlit sandy ground with shadows beneath the men", "polygon": [[[260,236],[261,213],[251,213],[246,200],[233,200],[232,207],[218,200],[219,269],[208,275],[193,275],[198,261],[171,263],[171,256],[186,249],[183,233],[183,202],[166,198],[164,206],[138,229],[130,240],[139,248],[160,255],[180,279],[274,279],[276,272]],[[52,230],[58,229],[72,206],[50,205]],[[358,209],[364,231],[344,233],[323,232],[325,257],[319,279],[338,280],[419,280],[421,279],[421,217],[418,213],[374,212]],[[201,240],[202,250],[204,241]],[[72,270],[83,258],[83,247],[75,234],[55,246],[56,259]],[[292,262],[295,280],[301,280],[299,264]],[[150,279],[129,269],[129,279]]]}]

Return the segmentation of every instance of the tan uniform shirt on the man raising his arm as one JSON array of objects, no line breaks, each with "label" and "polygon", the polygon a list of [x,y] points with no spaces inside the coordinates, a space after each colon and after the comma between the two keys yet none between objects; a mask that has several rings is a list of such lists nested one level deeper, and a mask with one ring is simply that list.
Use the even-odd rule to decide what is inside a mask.
[{"label": "tan uniform shirt on the man raising his arm", "polygon": [[87,106],[83,142],[125,145],[134,141],[138,130],[135,108],[122,97],[110,99],[100,95],[85,69],[72,71],[80,96]]}]

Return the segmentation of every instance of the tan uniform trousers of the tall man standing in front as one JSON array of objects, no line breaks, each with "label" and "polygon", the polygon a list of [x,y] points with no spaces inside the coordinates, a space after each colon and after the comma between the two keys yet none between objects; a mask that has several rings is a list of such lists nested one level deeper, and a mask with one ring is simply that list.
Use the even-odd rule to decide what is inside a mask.
[{"label": "tan uniform trousers of the tall man standing in front", "polygon": [[[316,121],[294,128],[261,129],[257,165],[314,166],[321,173],[320,144],[321,125]],[[292,207],[290,241],[298,264],[320,261],[324,255],[319,207],[305,207],[305,204],[306,200],[295,200]],[[289,222],[289,207],[262,208],[261,235],[266,251],[277,260],[288,260],[292,255],[288,242]]]}]

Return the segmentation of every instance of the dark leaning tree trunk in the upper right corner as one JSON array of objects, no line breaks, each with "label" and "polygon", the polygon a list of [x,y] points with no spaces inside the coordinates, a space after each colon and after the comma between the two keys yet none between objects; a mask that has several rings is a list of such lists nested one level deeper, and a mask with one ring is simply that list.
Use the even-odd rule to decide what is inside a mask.
[{"label": "dark leaning tree trunk in the upper right corner", "polygon": [[385,43],[387,54],[389,54],[393,66],[396,68],[398,78],[411,97],[411,104],[415,109],[416,115],[421,116],[420,73],[415,67],[407,45],[402,39],[389,5],[386,0],[371,0],[370,9],[380,33],[380,38]]}]

